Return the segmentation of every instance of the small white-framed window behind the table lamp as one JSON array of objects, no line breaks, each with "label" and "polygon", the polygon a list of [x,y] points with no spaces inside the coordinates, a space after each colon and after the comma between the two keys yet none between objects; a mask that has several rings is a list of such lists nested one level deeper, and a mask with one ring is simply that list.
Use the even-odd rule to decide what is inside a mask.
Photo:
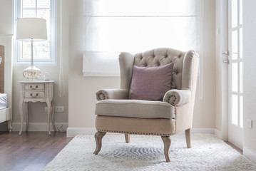
[{"label": "small white-framed window behind the table lamp", "polygon": [[[34,42],[34,63],[36,65],[55,65],[56,62],[56,5],[54,0],[21,0],[16,2],[16,19],[46,19],[47,41]],[[16,41],[16,58],[18,65],[30,63],[31,43]]]}]

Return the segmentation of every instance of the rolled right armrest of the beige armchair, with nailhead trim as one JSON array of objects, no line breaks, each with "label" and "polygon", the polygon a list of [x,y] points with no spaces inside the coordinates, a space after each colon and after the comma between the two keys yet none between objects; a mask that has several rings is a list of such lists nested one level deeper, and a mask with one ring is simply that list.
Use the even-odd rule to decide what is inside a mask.
[{"label": "rolled right armrest of the beige armchair, with nailhead trim", "polygon": [[190,90],[168,90],[163,96],[163,101],[170,103],[171,105],[183,105],[188,103],[191,98]]}]

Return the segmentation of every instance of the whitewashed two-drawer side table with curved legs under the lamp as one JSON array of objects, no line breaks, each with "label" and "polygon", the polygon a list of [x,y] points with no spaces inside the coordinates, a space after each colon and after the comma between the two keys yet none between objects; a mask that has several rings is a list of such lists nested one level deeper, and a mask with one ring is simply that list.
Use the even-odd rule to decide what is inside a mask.
[{"label": "whitewashed two-drawer side table with curved legs under the lamp", "polygon": [[[50,115],[52,116],[53,130],[56,131],[54,124],[55,103],[53,100],[53,83],[54,81],[19,81],[20,83],[20,99],[19,99],[19,115],[21,116],[21,128],[19,135],[22,132],[23,125],[23,103],[26,110],[26,131],[29,129],[29,102],[46,102],[47,104],[47,125],[48,134],[51,135]],[[52,113],[51,113],[52,106]]]}]

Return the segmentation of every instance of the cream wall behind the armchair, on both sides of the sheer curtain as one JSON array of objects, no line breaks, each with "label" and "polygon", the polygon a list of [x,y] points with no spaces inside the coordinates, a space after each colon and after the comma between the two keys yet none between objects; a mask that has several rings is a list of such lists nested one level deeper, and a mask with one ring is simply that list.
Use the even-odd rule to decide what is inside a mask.
[{"label": "cream wall behind the armchair, on both sides of the sheer curtain", "polygon": [[[96,91],[119,88],[118,77],[83,77],[83,0],[69,1],[69,128],[93,128]],[[203,100],[196,97],[194,128],[215,128],[215,1],[203,1]],[[198,93],[197,93],[198,94]]]}]

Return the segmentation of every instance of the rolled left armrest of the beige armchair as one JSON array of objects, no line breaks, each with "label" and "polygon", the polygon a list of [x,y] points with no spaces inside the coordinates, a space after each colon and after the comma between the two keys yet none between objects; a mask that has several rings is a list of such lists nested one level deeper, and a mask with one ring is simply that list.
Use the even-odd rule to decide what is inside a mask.
[{"label": "rolled left armrest of the beige armchair", "polygon": [[102,89],[96,92],[97,100],[106,99],[128,99],[129,90],[128,89]]}]

